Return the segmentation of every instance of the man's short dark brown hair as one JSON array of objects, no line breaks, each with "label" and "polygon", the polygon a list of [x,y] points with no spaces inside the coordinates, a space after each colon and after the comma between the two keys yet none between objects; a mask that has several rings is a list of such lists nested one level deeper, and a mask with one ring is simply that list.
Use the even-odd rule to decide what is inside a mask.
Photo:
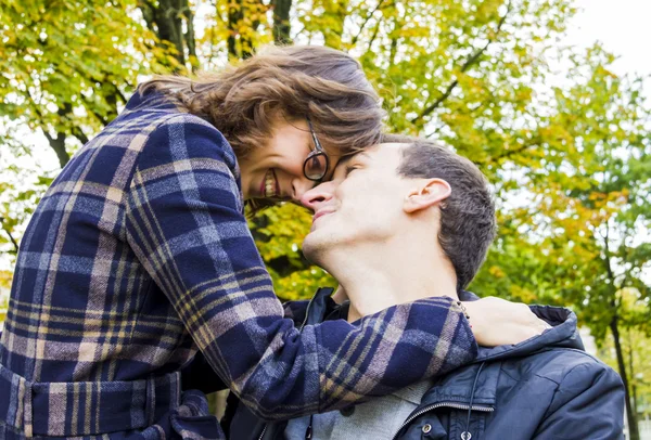
[{"label": "man's short dark brown hair", "polygon": [[412,179],[443,179],[451,193],[441,204],[438,243],[465,288],[478,272],[495,240],[495,204],[488,181],[465,157],[435,142],[385,134],[383,143],[407,144],[397,173]]}]

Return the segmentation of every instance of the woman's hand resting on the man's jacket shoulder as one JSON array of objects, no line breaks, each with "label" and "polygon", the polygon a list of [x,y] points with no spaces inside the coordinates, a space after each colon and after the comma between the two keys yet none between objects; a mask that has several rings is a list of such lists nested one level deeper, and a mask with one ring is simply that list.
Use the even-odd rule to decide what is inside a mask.
[{"label": "woman's hand resting on the man's jacket shoulder", "polygon": [[520,344],[551,328],[538,319],[527,305],[486,297],[464,301],[472,332],[480,346],[496,347]]}]

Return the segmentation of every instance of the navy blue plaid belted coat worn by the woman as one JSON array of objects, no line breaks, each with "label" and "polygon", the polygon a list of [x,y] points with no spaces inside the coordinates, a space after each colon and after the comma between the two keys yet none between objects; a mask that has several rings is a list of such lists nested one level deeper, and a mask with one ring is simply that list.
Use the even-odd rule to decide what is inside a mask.
[{"label": "navy blue plaid belted coat worn by the woman", "polygon": [[179,422],[202,415],[178,374],[200,350],[273,419],[384,396],[476,355],[441,298],[299,333],[247,229],[228,142],[169,99],[137,94],[24,234],[0,339],[0,437],[219,438],[205,417]]}]

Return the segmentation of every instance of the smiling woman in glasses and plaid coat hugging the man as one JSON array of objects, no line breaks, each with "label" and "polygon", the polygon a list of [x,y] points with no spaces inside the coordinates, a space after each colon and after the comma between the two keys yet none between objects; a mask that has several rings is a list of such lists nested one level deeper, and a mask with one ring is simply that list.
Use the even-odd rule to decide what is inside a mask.
[{"label": "smiling woman in glasses and plaid coat hugging the man", "polygon": [[[197,353],[265,418],[471,361],[463,308],[441,298],[298,333],[246,228],[246,203],[297,200],[337,157],[376,143],[381,119],[359,64],[326,48],[142,85],[25,232],[0,339],[0,437],[221,438],[203,394],[181,396]],[[477,302],[480,342],[514,310],[518,340],[541,331],[518,306]]]}]

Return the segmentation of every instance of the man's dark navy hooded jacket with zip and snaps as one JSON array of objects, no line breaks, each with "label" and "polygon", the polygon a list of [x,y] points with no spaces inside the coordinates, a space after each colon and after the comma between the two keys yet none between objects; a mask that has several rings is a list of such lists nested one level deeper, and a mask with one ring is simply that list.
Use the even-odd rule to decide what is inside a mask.
[{"label": "man's dark navy hooded jacket with zip and snaps", "polygon": [[[315,296],[309,321],[339,318],[328,310],[332,302],[326,295],[320,290]],[[463,293],[461,299],[476,297]],[[480,348],[476,361],[434,384],[394,438],[623,439],[620,376],[584,351],[572,311],[545,306],[532,310],[553,328],[515,346]],[[260,423],[240,407],[230,425],[231,438],[282,438],[284,426]]]}]

